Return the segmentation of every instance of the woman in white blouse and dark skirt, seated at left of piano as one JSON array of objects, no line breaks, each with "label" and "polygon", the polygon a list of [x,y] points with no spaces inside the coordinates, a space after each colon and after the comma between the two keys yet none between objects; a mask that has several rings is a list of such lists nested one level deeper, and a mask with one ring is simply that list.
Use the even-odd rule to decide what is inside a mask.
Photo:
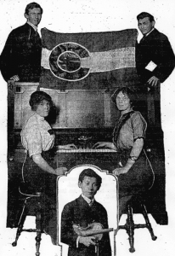
[{"label": "woman in white blouse and dark skirt, seated at left of piano", "polygon": [[[37,90],[31,94],[29,104],[31,117],[26,120],[20,133],[22,145],[27,152],[22,168],[23,188],[28,194],[42,192],[45,207],[52,204],[56,206],[56,178],[64,174],[66,168],[54,166],[55,136],[45,119],[53,102],[46,92]],[[76,146],[67,144],[59,148],[71,149]]]}]

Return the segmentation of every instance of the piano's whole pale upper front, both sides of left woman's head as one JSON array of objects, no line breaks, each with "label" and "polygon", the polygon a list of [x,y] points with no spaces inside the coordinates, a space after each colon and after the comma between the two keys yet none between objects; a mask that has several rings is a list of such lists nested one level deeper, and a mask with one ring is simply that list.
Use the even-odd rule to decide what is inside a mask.
[{"label": "piano's whole pale upper front, both sides of left woman's head", "polygon": [[[29,100],[37,90],[37,83],[15,83],[14,129],[21,129],[31,115]],[[116,107],[110,101],[109,90],[51,90],[46,91],[53,99],[52,125],[57,128],[104,128],[116,122]],[[54,120],[54,121],[53,121]]]}]

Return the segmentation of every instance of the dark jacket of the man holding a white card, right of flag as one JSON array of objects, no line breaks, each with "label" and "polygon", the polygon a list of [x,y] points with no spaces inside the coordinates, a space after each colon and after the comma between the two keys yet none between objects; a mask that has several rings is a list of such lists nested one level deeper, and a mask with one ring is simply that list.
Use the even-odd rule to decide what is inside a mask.
[{"label": "dark jacket of the man holding a white card, right of flag", "polygon": [[[153,61],[157,67],[150,72],[145,67]],[[143,84],[152,76],[164,82],[175,67],[175,56],[167,36],[154,29],[136,46],[136,67]]]}]

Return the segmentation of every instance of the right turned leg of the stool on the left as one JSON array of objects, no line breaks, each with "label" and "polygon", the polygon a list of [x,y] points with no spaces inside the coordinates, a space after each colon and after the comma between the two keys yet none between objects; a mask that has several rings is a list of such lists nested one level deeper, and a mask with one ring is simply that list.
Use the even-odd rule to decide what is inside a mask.
[{"label": "right turned leg of the stool on the left", "polygon": [[[39,206],[40,207],[40,206]],[[42,240],[41,236],[42,236],[42,213],[41,213],[41,209],[39,211],[37,211],[36,214],[36,229],[37,229],[37,236],[36,236],[36,256],[39,256],[39,248],[40,248],[40,242]]]}]

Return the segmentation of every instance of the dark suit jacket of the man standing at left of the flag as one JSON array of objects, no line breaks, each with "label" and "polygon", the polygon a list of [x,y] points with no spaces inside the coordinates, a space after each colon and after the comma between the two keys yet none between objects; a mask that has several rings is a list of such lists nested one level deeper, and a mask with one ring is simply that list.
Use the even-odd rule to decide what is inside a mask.
[{"label": "dark suit jacket of the man standing at left of the flag", "polygon": [[6,81],[19,75],[22,82],[38,82],[41,73],[42,40],[28,23],[9,33],[0,56],[0,69]]}]

